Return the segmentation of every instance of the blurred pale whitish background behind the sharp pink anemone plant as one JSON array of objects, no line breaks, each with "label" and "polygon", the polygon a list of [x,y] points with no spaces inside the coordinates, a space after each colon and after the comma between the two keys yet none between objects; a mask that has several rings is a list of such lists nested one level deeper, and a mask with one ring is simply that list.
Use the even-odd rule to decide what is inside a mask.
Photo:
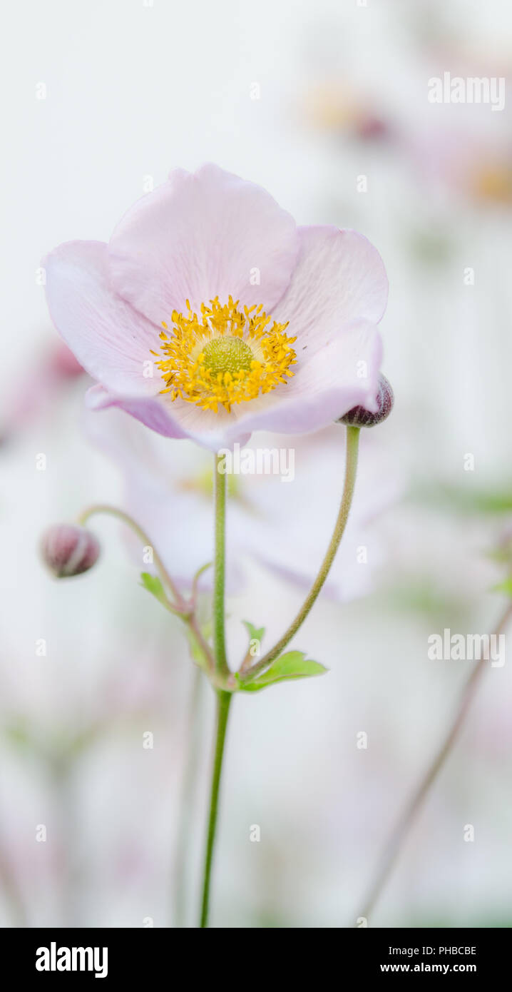
[{"label": "blurred pale whitish background behind the sharp pink anemone plant", "polygon": [[[349,540],[331,596],[296,639],[331,671],[233,707],[212,916],[213,926],[352,926],[470,666],[429,661],[428,637],[448,627],[484,633],[505,603],[490,590],[510,565],[512,513],[510,4],[261,0],[255,13],[227,0],[221,16],[203,0],[129,9],[91,0],[77,31],[73,8],[53,0],[31,4],[29,31],[25,8],[12,7],[9,27],[0,923],[178,919],[194,688],[182,631],[140,587],[115,522],[94,521],[102,557],[68,583],[49,578],[38,548],[51,523],[88,504],[126,502],[134,514],[151,505],[146,526],[169,542],[186,578],[208,558],[210,468],[194,460],[200,452],[188,460],[186,442],[169,441],[167,474],[152,437],[145,467],[128,446],[120,472],[118,453],[91,442],[87,379],[55,351],[39,259],[70,238],[108,239],[126,204],[171,167],[210,160],[271,189],[298,223],[361,231],[389,277],[381,331],[395,409],[362,438],[354,516],[362,537]],[[189,46],[173,44],[191,37],[193,72]],[[429,79],[446,70],[503,76],[503,111],[429,103]],[[229,600],[234,658],[247,644],[242,620],[265,624],[269,643],[282,632],[323,555],[340,432],[296,444],[293,482],[234,477],[233,563],[247,541]],[[267,446],[268,437],[254,442]],[[167,534],[169,483],[183,526],[172,521]],[[354,569],[361,545],[367,563]],[[366,593],[357,598],[354,575]],[[486,673],[373,926],[510,925],[510,669],[508,656]],[[200,701],[188,925],[208,686]]]}]

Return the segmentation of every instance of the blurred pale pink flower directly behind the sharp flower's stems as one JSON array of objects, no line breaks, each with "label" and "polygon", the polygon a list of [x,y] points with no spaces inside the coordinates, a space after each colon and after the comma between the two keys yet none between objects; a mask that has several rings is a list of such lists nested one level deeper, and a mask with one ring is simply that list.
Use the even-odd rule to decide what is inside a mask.
[{"label": "blurred pale pink flower directly behind the sharp flower's stems", "polygon": [[[143,528],[170,574],[190,589],[195,573],[213,558],[212,499],[214,463],[210,452],[187,440],[172,445],[148,432],[123,411],[86,412],[84,429],[91,441],[121,469],[124,494],[120,508]],[[371,541],[372,522],[399,495],[401,472],[389,473],[389,452],[362,432],[358,499],[323,594],[344,601],[361,595],[383,549]],[[343,489],[346,432],[337,425],[293,439],[263,434],[239,452],[256,473],[230,471],[228,583],[231,592],[247,586],[254,559],[307,589],[329,544]],[[249,464],[250,454],[254,460]],[[262,452],[267,456],[263,460]],[[285,457],[282,457],[284,452]],[[234,466],[237,463],[234,461]],[[403,479],[402,479],[403,487]],[[134,560],[143,566],[141,542],[130,534]],[[382,542],[380,542],[381,544]],[[150,569],[152,570],[152,569]],[[199,588],[211,587],[211,571]]]}]

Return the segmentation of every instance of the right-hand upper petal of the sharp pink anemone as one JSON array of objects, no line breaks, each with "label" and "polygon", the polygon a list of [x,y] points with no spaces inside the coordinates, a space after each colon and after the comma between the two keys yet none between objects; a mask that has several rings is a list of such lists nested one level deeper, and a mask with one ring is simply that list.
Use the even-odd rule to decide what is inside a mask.
[{"label": "right-hand upper petal of the sharp pink anemone", "polygon": [[272,311],[289,321],[297,354],[317,351],[354,320],[378,323],[387,303],[387,277],[376,248],[357,231],[298,228],[300,252],[290,285]]}]

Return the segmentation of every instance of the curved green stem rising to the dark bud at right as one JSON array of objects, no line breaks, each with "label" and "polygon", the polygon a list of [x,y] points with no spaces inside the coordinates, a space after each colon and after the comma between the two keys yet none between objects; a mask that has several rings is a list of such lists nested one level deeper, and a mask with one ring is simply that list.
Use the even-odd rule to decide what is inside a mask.
[{"label": "curved green stem rising to the dark bud at right", "polygon": [[277,641],[277,644],[274,645],[274,647],[271,648],[271,650],[268,651],[263,658],[260,658],[259,661],[257,661],[251,668],[244,671],[244,666],[242,667],[240,675],[243,680],[253,679],[258,672],[261,672],[263,669],[267,668],[268,665],[270,665],[270,663],[280,655],[281,651],[287,644],[289,644],[294,634],[296,634],[299,627],[302,626],[308,613],[317,600],[320,590],[322,589],[322,586],[329,574],[329,570],[334,561],[338,548],[340,547],[340,542],[347,526],[347,520],[349,519],[349,512],[351,509],[354,487],[356,484],[356,474],[358,470],[358,442],[359,428],[348,427],[345,485],[342,495],[342,502],[340,504],[340,511],[338,513],[338,519],[336,521],[333,536],[325,558],[320,565],[318,575],[313,582],[313,585],[311,586],[311,589],[309,590],[299,612],[297,613],[297,616],[290,624],[287,631],[285,631],[282,635],[280,640]]}]

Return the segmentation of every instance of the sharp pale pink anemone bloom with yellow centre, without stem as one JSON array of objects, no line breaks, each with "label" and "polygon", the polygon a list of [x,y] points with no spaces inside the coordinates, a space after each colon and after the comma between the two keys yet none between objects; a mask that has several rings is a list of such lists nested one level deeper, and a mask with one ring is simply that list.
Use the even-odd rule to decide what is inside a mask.
[{"label": "sharp pale pink anemone bloom with yellow centre, without stem", "polygon": [[212,449],[373,409],[377,251],[352,230],[297,227],[216,166],[172,172],[108,244],[68,242],[45,266],[55,327],[98,383],[95,409]]}]

